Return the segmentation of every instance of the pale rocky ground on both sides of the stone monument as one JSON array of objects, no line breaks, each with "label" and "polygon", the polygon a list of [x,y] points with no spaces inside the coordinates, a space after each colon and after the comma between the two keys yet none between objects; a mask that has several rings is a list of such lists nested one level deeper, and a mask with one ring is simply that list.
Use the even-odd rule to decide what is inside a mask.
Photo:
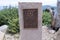
[{"label": "pale rocky ground on both sides of the stone monument", "polygon": [[[55,40],[57,33],[58,32],[55,32],[47,26],[42,26],[42,40]],[[4,40],[19,40],[19,34],[6,34]]]}]

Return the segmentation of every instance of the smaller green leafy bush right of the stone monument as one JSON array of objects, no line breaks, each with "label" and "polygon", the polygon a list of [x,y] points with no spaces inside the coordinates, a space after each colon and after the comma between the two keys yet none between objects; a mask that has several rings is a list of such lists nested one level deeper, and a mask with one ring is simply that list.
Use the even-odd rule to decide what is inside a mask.
[{"label": "smaller green leafy bush right of the stone monument", "polygon": [[51,15],[47,11],[43,11],[43,17],[42,17],[43,25],[51,25]]}]

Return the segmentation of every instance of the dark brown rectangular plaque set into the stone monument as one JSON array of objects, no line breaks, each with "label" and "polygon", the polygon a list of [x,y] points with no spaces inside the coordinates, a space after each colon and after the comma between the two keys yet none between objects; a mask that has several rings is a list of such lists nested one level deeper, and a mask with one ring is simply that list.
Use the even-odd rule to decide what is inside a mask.
[{"label": "dark brown rectangular plaque set into the stone monument", "polygon": [[38,27],[38,9],[23,9],[24,28]]}]

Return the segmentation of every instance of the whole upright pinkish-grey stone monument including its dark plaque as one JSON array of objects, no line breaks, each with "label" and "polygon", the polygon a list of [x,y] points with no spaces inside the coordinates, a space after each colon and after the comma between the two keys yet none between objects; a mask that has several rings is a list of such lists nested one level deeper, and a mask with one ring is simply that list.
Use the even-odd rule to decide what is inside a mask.
[{"label": "whole upright pinkish-grey stone monument including its dark plaque", "polygon": [[42,40],[42,3],[19,2],[19,40]]}]

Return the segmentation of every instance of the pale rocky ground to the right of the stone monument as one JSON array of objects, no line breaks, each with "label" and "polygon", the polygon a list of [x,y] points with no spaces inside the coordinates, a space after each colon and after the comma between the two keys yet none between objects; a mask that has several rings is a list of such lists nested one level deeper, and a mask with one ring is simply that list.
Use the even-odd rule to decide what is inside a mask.
[{"label": "pale rocky ground to the right of the stone monument", "polygon": [[42,40],[55,40],[57,32],[48,28],[47,26],[42,27]]}]

